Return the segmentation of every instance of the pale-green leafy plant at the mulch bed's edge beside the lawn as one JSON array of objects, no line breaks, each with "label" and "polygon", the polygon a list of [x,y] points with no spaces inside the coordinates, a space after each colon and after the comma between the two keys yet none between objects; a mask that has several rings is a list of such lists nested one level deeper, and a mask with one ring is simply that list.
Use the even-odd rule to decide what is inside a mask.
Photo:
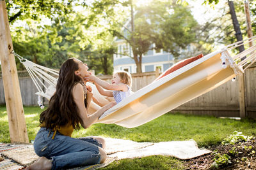
[{"label": "pale-green leafy plant at the mulch bed's edge beside the lawn", "polygon": [[228,144],[234,145],[241,141],[248,141],[252,138],[253,138],[252,136],[244,136],[242,134],[242,132],[234,131],[233,134],[230,134],[230,136],[228,136],[228,138],[223,139],[221,144],[222,145],[228,145]]}]

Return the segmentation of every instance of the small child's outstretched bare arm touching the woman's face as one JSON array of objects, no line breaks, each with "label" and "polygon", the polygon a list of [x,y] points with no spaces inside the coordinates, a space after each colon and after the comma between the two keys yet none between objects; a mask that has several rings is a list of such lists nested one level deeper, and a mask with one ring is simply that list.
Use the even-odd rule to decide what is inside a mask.
[{"label": "small child's outstretched bare arm touching the woman's face", "polygon": [[92,74],[86,75],[84,80],[92,81],[93,83],[97,83],[98,85],[100,85],[101,87],[103,87],[104,89],[107,89],[107,90],[120,90],[120,91],[124,91],[124,92],[126,92],[128,90],[128,87],[123,83],[120,83],[118,85],[111,85],[106,81],[100,80],[99,78],[97,78],[96,76],[94,76]]}]

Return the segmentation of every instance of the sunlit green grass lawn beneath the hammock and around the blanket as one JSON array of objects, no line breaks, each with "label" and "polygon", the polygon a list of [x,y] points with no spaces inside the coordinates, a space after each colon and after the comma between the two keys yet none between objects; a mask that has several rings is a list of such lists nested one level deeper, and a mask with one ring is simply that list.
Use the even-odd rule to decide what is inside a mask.
[{"label": "sunlit green grass lawn beneath the hammock and around the blanket", "polygon": [[[24,107],[29,140],[34,140],[38,131],[38,107]],[[10,143],[6,108],[0,106],[0,142]],[[74,131],[72,137],[102,136],[130,139],[138,142],[182,141],[194,139],[199,147],[220,144],[234,131],[246,136],[255,136],[254,120],[231,120],[208,116],[168,113],[140,127],[127,129],[115,124],[94,124],[88,129]],[[141,159],[115,161],[104,169],[184,169],[182,161],[172,157],[151,156]]]}]

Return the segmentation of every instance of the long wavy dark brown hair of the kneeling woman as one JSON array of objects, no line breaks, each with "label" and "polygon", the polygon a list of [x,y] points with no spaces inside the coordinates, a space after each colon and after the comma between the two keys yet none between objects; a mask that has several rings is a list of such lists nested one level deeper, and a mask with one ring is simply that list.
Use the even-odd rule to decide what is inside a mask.
[{"label": "long wavy dark brown hair of the kneeling woman", "polygon": [[56,92],[51,97],[47,110],[40,114],[40,124],[44,123],[45,127],[54,129],[71,123],[74,129],[79,129],[79,123],[82,120],[79,117],[79,110],[72,96],[74,85],[83,82],[74,73],[78,69],[78,64],[74,58],[63,62],[56,85]]}]

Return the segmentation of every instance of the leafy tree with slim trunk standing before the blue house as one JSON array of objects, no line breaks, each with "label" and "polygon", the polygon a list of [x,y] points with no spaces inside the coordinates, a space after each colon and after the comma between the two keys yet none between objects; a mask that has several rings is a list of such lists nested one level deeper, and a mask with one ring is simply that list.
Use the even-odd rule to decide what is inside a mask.
[{"label": "leafy tree with slim trunk standing before the blue house", "polygon": [[[118,1],[116,1],[116,3],[118,3]],[[185,24],[183,22],[182,25],[181,23],[178,24],[180,20],[177,18],[165,17],[166,15],[170,15],[170,10],[178,10],[178,8],[174,8],[174,1],[154,1],[154,3],[143,7],[134,6],[132,1],[125,1],[123,3],[119,2],[119,4],[122,4],[122,7],[129,7],[129,9],[131,9],[130,17],[125,13],[123,14],[124,17],[131,18],[128,25],[124,24],[124,19],[120,22],[120,20],[116,20],[116,18],[113,18],[112,9],[114,8],[114,6],[117,5],[113,5],[111,3],[107,4],[108,7],[106,6],[106,1],[95,1],[95,3],[93,3],[92,5],[93,10],[96,10],[97,13],[104,13],[104,15],[106,15],[105,19],[113,23],[112,25],[115,25],[115,27],[109,28],[109,31],[113,34],[113,36],[118,36],[118,38],[125,39],[125,41],[129,43],[132,48],[133,54],[129,55],[129,57],[131,57],[136,63],[137,73],[141,73],[142,57],[143,54],[148,52],[148,50],[152,50],[153,48],[168,48],[168,51],[171,51],[170,49],[173,49],[173,55],[178,56],[178,49],[185,48],[186,45],[193,42],[193,36],[195,35],[192,33],[193,29],[191,29],[191,26],[195,26],[196,24],[195,22],[194,24],[191,23],[195,20],[184,19],[182,21],[189,21],[189,24]],[[133,12],[134,9],[136,12]],[[186,14],[189,13],[189,10],[187,11],[188,12]],[[176,15],[176,17],[179,16]],[[183,17],[186,18],[186,15],[183,15]],[[189,15],[189,17],[191,19],[191,15]],[[173,22],[173,26],[175,26],[176,24],[180,26],[179,28],[184,27],[184,29],[177,29],[176,32],[173,32],[173,28],[168,27],[167,25],[167,23],[171,21]],[[124,30],[120,30],[120,25],[124,28]],[[180,31],[179,39],[177,36],[177,39],[172,38],[173,41],[167,40],[166,34],[170,34],[168,38],[171,38],[171,36],[174,37],[175,35],[173,34],[176,34],[178,31]],[[160,39],[165,41],[161,41]],[[152,46],[153,44],[155,44],[156,46]],[[171,44],[172,48],[170,48]],[[124,55],[127,55],[127,53],[125,53]]]}]

